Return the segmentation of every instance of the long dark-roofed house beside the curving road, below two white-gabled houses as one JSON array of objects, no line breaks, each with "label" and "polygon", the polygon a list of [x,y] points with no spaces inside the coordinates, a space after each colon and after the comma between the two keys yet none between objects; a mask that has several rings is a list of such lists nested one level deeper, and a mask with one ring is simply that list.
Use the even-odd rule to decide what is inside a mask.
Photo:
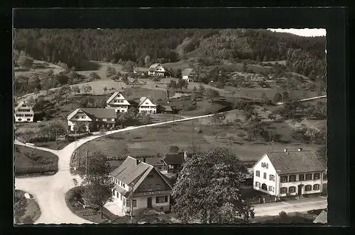
[{"label": "long dark-roofed house beside the curving road, below two white-gabled houses", "polygon": [[84,123],[87,132],[101,128],[108,130],[116,124],[116,112],[107,108],[77,108],[67,116],[68,130],[74,131],[74,126],[79,122]]}]

